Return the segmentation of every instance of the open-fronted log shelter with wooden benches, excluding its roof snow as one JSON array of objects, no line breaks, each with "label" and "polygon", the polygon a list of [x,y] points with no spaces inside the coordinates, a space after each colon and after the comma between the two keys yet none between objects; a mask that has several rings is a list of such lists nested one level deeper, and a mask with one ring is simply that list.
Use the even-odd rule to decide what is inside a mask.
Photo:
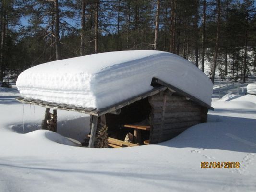
[{"label": "open-fronted log shelter with wooden benches, excluding its roof snow", "polygon": [[[23,97],[16,99],[22,103],[45,107],[42,129],[55,132],[57,109],[89,114],[88,147],[97,148],[132,147],[163,142],[193,125],[207,122],[208,109],[214,110],[195,96],[158,78],[152,79],[151,86],[153,89],[146,93],[101,109]],[[53,113],[50,113],[50,108]],[[123,141],[124,138],[127,141]]]}]

